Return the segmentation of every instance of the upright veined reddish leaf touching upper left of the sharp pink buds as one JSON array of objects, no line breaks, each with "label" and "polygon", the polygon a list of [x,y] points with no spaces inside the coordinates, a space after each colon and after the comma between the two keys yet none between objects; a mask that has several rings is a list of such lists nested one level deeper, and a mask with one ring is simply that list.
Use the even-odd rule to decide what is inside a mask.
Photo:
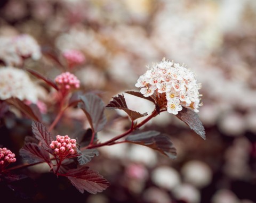
[{"label": "upright veined reddish leaf touching upper left of the sharp pink buds", "polygon": [[47,150],[51,151],[50,144],[53,141],[51,133],[47,131],[46,127],[37,121],[32,122],[32,132],[35,135],[35,138],[38,139],[42,147]]}]

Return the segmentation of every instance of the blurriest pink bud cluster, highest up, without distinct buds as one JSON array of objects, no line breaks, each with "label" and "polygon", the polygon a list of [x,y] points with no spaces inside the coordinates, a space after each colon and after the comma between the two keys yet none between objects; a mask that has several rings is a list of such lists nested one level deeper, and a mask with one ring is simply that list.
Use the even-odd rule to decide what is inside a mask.
[{"label": "blurriest pink bud cluster, highest up, without distinct buds", "polygon": [[68,62],[68,66],[70,68],[74,67],[75,65],[82,64],[85,61],[84,54],[79,50],[75,50],[75,49],[65,50],[65,52],[63,52],[62,55],[64,58],[66,58]]}]

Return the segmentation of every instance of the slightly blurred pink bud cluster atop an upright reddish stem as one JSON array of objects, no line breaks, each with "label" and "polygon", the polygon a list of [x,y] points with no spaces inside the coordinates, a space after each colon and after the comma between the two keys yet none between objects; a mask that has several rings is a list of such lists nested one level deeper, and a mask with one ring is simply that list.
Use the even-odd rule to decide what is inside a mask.
[{"label": "slightly blurred pink bud cluster atop an upright reddish stem", "polygon": [[70,72],[65,72],[58,75],[55,78],[55,82],[60,90],[67,92],[70,89],[78,89],[80,87],[80,81],[74,74]]}]

